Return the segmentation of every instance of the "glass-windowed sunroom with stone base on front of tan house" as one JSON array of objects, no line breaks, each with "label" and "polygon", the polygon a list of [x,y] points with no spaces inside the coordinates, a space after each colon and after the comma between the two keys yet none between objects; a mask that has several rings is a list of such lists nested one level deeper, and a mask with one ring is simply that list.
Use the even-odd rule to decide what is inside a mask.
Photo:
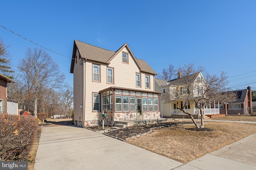
[{"label": "glass-windowed sunroom with stone base on front of tan house", "polygon": [[100,91],[101,111],[114,121],[160,118],[160,92],[110,87]]}]

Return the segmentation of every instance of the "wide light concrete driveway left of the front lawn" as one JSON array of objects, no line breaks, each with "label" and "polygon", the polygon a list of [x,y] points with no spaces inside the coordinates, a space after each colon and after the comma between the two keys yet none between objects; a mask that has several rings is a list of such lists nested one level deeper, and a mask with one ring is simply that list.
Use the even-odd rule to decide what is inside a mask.
[{"label": "wide light concrete driveway left of the front lawn", "polygon": [[98,132],[56,126],[42,128],[34,169],[170,170],[180,165],[182,163]]}]

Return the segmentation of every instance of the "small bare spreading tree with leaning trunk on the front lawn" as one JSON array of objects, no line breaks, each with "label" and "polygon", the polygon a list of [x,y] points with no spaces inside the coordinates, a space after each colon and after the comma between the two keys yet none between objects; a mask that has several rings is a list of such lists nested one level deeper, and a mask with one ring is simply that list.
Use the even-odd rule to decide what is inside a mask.
[{"label": "small bare spreading tree with leaning trunk on the front lawn", "polygon": [[[190,116],[193,123],[197,128],[204,128],[204,108],[208,104],[213,104],[214,102],[234,102],[236,100],[236,94],[230,92],[226,85],[228,84],[226,73],[221,72],[220,76],[216,74],[210,75],[206,72],[204,77],[204,82],[200,84],[202,87],[199,93],[195,93],[195,89],[198,89],[197,77],[200,72],[204,72],[203,67],[195,68],[194,64],[184,65],[184,67],[179,67],[176,71],[179,72],[178,76],[180,78],[180,85],[182,88],[187,89],[187,93],[181,92],[180,85],[173,85],[172,81],[169,82],[170,88],[165,94],[162,95],[161,100],[168,104],[173,102],[176,104],[177,109],[180,109],[183,113]],[[182,100],[183,106],[180,108],[178,106],[178,101]],[[186,104],[193,102],[200,109],[201,115],[201,126],[194,120],[191,113],[188,113],[185,109]]]}]

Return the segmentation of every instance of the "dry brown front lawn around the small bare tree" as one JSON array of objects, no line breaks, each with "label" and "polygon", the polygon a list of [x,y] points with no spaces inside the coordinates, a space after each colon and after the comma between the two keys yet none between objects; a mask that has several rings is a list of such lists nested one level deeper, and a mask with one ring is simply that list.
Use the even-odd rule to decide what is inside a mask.
[{"label": "dry brown front lawn around the small bare tree", "polygon": [[191,131],[193,124],[156,129],[128,143],[177,160],[190,162],[256,133],[256,124],[205,122],[214,131]]}]

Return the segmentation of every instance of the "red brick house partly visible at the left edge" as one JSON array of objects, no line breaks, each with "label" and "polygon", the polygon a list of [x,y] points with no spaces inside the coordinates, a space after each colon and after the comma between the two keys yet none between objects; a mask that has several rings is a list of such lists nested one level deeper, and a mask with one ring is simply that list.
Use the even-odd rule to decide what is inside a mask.
[{"label": "red brick house partly visible at the left edge", "polygon": [[7,113],[7,83],[14,82],[0,74],[0,114]]}]

